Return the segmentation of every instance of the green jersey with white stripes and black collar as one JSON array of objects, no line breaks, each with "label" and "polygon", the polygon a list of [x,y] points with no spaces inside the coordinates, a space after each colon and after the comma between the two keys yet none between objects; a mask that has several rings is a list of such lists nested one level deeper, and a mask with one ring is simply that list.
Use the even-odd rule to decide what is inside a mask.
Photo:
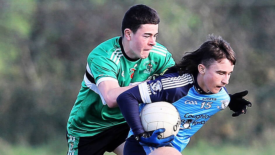
[{"label": "green jersey with white stripes and black collar", "polygon": [[130,59],[121,37],[99,44],[90,52],[81,89],[67,123],[70,135],[93,136],[114,125],[125,123],[119,107],[109,108],[98,90],[102,81],[117,81],[120,87],[135,85],[159,75],[175,65],[172,54],[157,43],[148,58]]}]

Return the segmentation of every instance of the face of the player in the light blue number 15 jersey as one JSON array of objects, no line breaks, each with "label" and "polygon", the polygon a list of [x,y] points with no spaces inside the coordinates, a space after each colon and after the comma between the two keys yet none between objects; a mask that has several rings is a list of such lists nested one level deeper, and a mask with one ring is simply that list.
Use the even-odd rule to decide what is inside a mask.
[{"label": "face of the player in the light blue number 15 jersey", "polygon": [[215,62],[208,68],[204,68],[203,82],[201,88],[205,92],[218,93],[222,87],[229,83],[234,65],[228,59]]}]

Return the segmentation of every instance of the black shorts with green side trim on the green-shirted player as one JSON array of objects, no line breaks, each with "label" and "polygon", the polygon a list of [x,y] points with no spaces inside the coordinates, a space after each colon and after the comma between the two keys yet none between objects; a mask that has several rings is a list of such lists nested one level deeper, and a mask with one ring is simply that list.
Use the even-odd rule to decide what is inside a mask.
[{"label": "black shorts with green side trim on the green-shirted player", "polygon": [[67,143],[69,150],[67,155],[94,154],[103,155],[112,152],[125,142],[130,127],[127,123],[115,125],[94,136],[74,137],[67,132]]}]

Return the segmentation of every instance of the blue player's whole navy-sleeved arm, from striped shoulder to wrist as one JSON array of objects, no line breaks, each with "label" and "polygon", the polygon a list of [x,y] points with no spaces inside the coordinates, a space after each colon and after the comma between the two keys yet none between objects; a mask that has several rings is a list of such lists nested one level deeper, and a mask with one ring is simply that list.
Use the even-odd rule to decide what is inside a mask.
[{"label": "blue player's whole navy-sleeved arm, from striped shoulder to wrist", "polygon": [[[186,80],[190,80],[190,78],[192,79],[191,75],[187,76]],[[179,78],[177,73],[163,75],[156,80],[142,82],[119,95],[116,101],[134,134],[138,135],[144,132],[139,116],[139,104],[157,101],[173,103],[187,94],[191,84],[182,85],[179,79],[182,78]],[[170,88],[171,86],[173,88]],[[164,87],[169,89],[164,89]]]}]

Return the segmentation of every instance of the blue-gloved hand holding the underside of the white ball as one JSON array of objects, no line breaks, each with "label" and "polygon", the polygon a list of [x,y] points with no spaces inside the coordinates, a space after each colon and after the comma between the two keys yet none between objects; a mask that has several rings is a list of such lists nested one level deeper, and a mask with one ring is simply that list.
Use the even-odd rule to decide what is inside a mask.
[{"label": "blue-gloved hand holding the underside of the white ball", "polygon": [[167,144],[170,144],[175,138],[175,135],[171,135],[169,137],[159,139],[158,135],[163,133],[164,131],[165,129],[162,128],[154,130],[152,132],[144,132],[141,133],[138,137],[136,137],[136,139],[139,142],[146,144],[150,147],[163,147]]}]

